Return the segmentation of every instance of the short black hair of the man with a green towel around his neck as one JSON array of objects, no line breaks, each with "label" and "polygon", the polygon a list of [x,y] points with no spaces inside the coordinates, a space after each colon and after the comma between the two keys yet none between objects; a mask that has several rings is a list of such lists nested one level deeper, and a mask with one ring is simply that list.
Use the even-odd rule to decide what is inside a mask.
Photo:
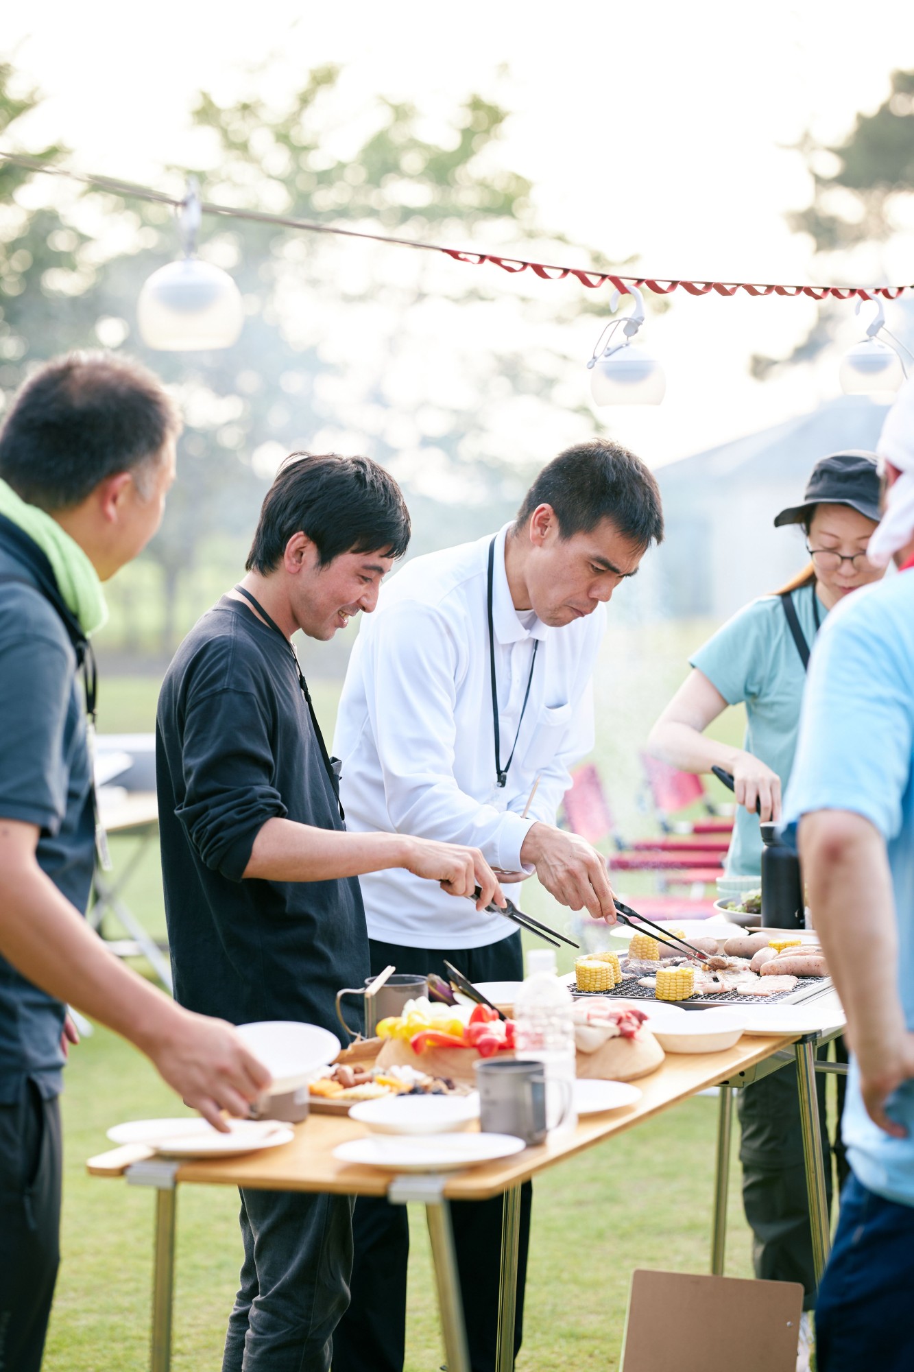
[{"label": "short black hair of the man with a green towel around his neck", "polygon": [[[0,476],[29,505],[80,505],[158,457],[181,421],[159,380],[113,353],[70,353],[32,376],[0,432]],[[137,473],[137,484],[141,484]]]}]

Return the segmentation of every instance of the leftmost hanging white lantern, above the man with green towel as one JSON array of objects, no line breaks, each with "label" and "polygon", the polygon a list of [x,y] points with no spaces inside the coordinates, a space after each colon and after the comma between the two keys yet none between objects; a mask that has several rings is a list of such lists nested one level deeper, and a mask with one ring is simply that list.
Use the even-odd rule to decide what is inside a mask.
[{"label": "leftmost hanging white lantern, above the man with green towel", "polygon": [[154,272],[140,291],[140,333],[150,347],[169,353],[231,347],[242,332],[244,305],[228,272],[194,255],[200,226],[196,177],[188,178],[180,226],[184,257]]}]

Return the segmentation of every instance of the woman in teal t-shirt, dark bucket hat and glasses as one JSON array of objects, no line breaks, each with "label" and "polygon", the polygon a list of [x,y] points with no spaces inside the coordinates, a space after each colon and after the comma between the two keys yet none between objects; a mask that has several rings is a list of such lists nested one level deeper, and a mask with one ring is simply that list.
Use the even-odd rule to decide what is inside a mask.
[{"label": "woman in teal t-shirt, dark bucket hat and glasses", "polygon": [[[693,654],[692,672],[651,733],[651,752],[674,767],[707,772],[718,766],[733,772],[740,809],[727,853],[729,873],[760,874],[756,801],[762,820],[780,819],[800,726],[808,650],[828,612],[882,575],[866,560],[878,519],[880,480],[871,453],[834,453],[817,462],[803,505],[781,510],[774,521],[803,525],[810,565],[778,594],[763,595],[741,609]],[[727,705],[740,702],[747,711],[744,746],[707,738],[708,724]],[[819,1087],[825,1118],[821,1074]],[[769,1280],[801,1281],[804,1306],[811,1309],[815,1276],[796,1073],[773,1073],[741,1091],[737,1100],[742,1200],[755,1233],[755,1273]],[[830,1165],[826,1176],[830,1198]]]}]

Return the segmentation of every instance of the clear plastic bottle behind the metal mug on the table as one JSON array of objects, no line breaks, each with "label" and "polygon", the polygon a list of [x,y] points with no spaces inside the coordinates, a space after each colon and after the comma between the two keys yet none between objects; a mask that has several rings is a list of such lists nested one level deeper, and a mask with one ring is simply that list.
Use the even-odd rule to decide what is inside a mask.
[{"label": "clear plastic bottle behind the metal mug on the table", "polygon": [[527,980],[515,996],[516,1056],[542,1062],[546,1077],[546,1125],[552,1137],[574,1133],[575,1025],[571,992],[556,975],[552,948],[531,948]]}]

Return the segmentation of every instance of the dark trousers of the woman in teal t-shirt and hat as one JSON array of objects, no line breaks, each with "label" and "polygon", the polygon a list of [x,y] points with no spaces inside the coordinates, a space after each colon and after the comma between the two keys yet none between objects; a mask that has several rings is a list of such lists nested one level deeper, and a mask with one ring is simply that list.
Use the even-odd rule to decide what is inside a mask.
[{"label": "dark trousers of the woman in teal t-shirt and hat", "polygon": [[[839,1040],[839,1056],[844,1040]],[[832,1151],[825,1113],[825,1076],[817,1074],[825,1190],[832,1205]],[[839,1078],[839,1115],[844,1078]],[[796,1088],[796,1067],[782,1067],[737,1095],[742,1126],[742,1207],[752,1229],[752,1264],[756,1277],[769,1281],[800,1281],[804,1309],[815,1308],[815,1270],[810,1205],[803,1165],[803,1129]],[[840,1120],[839,1120],[840,1133]],[[843,1146],[836,1143],[839,1185],[847,1176]]]}]

